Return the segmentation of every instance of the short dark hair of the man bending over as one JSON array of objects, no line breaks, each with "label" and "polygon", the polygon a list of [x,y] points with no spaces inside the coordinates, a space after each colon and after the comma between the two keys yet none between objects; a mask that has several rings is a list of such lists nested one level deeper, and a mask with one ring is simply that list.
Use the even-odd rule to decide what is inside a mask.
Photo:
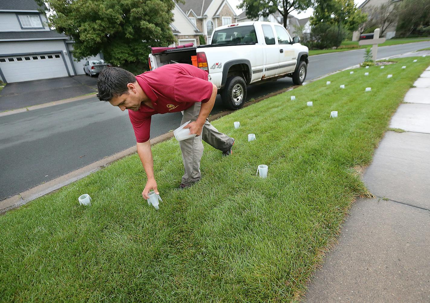
[{"label": "short dark hair of the man bending over", "polygon": [[110,101],[112,98],[128,92],[127,84],[135,83],[134,74],[119,67],[107,67],[100,72],[97,79],[97,98]]}]

